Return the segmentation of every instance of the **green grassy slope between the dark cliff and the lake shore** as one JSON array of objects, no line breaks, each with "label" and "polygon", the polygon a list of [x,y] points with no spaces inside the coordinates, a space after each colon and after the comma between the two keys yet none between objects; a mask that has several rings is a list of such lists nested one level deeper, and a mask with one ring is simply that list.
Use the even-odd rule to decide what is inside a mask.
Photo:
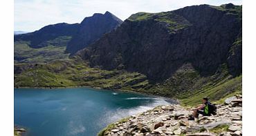
[{"label": "green grassy slope between the dark cliff and the lake shore", "polygon": [[[16,64],[24,67],[28,64]],[[80,59],[57,60],[48,64],[33,64],[15,74],[15,87],[70,87],[90,86],[113,90],[132,90],[140,93],[176,97],[181,104],[193,106],[208,96],[212,101],[241,93],[241,75],[228,75],[226,65],[209,77],[201,77],[196,70],[178,70],[162,83],[152,83],[145,75],[125,70],[90,68]]]}]

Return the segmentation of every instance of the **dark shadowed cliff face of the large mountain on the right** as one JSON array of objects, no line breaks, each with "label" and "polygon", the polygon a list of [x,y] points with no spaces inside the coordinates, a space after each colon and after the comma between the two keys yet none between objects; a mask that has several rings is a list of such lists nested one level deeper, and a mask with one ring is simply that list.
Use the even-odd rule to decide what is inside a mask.
[{"label": "dark shadowed cliff face of the large mountain on the right", "polygon": [[77,54],[91,66],[170,77],[190,63],[201,75],[228,64],[241,73],[241,6],[190,6],[170,12],[131,15],[116,30]]}]

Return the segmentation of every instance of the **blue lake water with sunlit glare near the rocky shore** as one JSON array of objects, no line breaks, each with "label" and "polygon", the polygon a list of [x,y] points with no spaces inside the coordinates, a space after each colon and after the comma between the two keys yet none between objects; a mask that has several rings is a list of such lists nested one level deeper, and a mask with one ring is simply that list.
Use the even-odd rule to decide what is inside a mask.
[{"label": "blue lake water with sunlit glare near the rocky shore", "polygon": [[15,89],[15,125],[26,135],[93,136],[107,124],[173,101],[93,88]]}]

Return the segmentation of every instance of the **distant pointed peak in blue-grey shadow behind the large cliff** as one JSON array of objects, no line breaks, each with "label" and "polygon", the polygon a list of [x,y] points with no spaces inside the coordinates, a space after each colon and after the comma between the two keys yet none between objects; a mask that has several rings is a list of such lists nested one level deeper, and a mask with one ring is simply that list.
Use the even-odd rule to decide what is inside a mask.
[{"label": "distant pointed peak in blue-grey shadow behind the large cliff", "polygon": [[90,43],[93,43],[93,41],[100,39],[102,35],[115,29],[121,23],[122,20],[110,12],[105,12],[104,14],[95,13],[92,17],[86,17],[80,23],[78,32],[68,43],[66,52],[74,54]]}]

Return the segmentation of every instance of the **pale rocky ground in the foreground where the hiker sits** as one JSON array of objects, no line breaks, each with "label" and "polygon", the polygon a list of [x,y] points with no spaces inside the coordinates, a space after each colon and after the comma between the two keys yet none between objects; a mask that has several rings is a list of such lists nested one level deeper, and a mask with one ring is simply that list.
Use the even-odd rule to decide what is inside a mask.
[{"label": "pale rocky ground in the foreground where the hiker sits", "polygon": [[182,106],[158,106],[111,124],[99,135],[239,136],[242,135],[241,105],[241,97],[230,97],[226,104],[217,105],[217,115],[199,116],[196,121],[188,120],[192,111]]}]

